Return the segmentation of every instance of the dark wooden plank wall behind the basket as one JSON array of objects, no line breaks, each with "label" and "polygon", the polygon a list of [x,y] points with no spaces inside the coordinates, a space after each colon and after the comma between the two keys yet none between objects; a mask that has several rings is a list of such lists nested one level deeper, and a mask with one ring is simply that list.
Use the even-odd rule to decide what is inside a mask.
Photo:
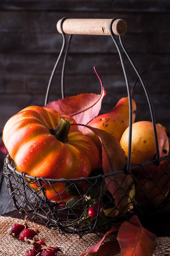
[{"label": "dark wooden plank wall behind the basket", "polygon": [[[60,18],[122,18],[127,22],[124,43],[144,79],[156,121],[170,129],[170,1],[169,0],[0,0],[0,132],[22,108],[43,106],[48,81],[60,52]],[[130,85],[136,74],[125,58]],[[100,92],[96,66],[107,96],[101,112],[127,96],[116,47],[110,36],[74,36],[65,73],[66,96]],[[50,101],[61,98],[60,70]],[[133,98],[137,119],[150,120],[142,86]]]}]

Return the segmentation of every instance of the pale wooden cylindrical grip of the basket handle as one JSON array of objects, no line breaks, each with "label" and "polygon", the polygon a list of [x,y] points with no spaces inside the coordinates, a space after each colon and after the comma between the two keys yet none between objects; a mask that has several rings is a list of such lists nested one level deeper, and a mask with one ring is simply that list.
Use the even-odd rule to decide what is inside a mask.
[{"label": "pale wooden cylindrical grip of the basket handle", "polygon": [[[63,22],[65,34],[78,35],[106,35],[110,36],[109,25],[112,19],[66,19]],[[57,22],[57,30],[60,29],[61,20]],[[116,36],[125,34],[127,25],[125,20],[114,20],[112,25],[113,33]]]}]

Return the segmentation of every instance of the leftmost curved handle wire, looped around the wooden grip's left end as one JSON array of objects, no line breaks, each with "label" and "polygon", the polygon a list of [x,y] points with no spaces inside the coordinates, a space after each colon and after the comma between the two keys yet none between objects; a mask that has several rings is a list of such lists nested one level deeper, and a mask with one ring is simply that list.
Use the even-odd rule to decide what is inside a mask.
[{"label": "leftmost curved handle wire, looped around the wooden grip's left end", "polygon": [[50,92],[50,89],[51,89],[51,83],[53,81],[53,78],[54,78],[54,74],[56,72],[56,68],[58,67],[58,63],[60,61],[60,58],[64,52],[64,49],[65,49],[65,33],[63,32],[63,22],[66,20],[67,18],[64,17],[62,20],[61,20],[61,23],[60,23],[60,29],[61,29],[61,32],[62,32],[62,36],[63,36],[63,45],[62,45],[62,48],[61,48],[61,51],[60,51],[60,54],[58,56],[58,59],[56,61],[56,64],[54,66],[54,69],[51,73],[51,77],[49,79],[49,84],[48,84],[48,87],[47,87],[47,92],[46,92],[46,96],[45,96],[45,105],[48,103],[48,99],[49,99],[49,92]]}]

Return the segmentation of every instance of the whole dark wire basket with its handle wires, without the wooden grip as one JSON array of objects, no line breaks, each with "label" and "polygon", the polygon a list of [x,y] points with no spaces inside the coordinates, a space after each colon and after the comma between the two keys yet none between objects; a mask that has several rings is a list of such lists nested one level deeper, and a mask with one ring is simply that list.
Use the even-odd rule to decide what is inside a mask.
[{"label": "whole dark wire basket with its handle wires, without the wooden grip", "polygon": [[[65,32],[63,31],[63,22],[65,20],[66,18],[63,18],[60,21],[59,29],[63,35],[63,46],[51,74],[45,97],[45,105],[48,102],[54,73],[66,47]],[[117,22],[117,18],[110,20],[109,33],[112,36],[120,56],[129,99],[130,139],[128,145],[128,161],[125,168],[109,174],[104,174],[102,168],[98,168],[93,170],[91,175],[87,178],[54,180],[42,177],[32,177],[26,173],[17,171],[10,155],[7,155],[4,162],[4,178],[7,187],[9,188],[11,198],[13,199],[14,207],[16,207],[20,213],[25,213],[30,216],[32,220],[41,222],[49,228],[57,229],[62,234],[72,233],[81,236],[86,233],[105,232],[117,221],[128,220],[133,214],[140,213],[144,215],[153,213],[156,210],[165,207],[169,202],[170,156],[160,159],[152,103],[143,77],[137,70],[123,44],[121,35],[125,33],[126,27],[124,27],[123,30],[119,30],[118,33],[120,44],[123,51],[128,56],[130,63],[134,67],[136,74],[139,76],[148,99],[157,149],[154,159],[151,159],[149,162],[140,163],[135,166],[130,165],[132,146],[132,99],[128,76],[121,52],[122,49],[116,41],[115,31],[113,32],[114,22],[116,22],[116,24],[119,23]],[[125,26],[124,21],[121,25],[122,24]],[[61,87],[63,98],[65,97],[65,63],[71,39],[72,34],[67,41],[63,62]],[[129,179],[129,176],[131,182],[128,186],[126,179]],[[56,184],[59,185],[61,183],[64,184],[65,189],[59,194],[56,192],[55,186]],[[111,193],[109,189],[109,186],[112,184],[116,187],[114,194]],[[54,202],[53,197],[47,197],[47,188],[50,188],[56,193],[56,196],[58,197],[57,202]],[[65,200],[65,193],[68,195],[67,200]]]}]

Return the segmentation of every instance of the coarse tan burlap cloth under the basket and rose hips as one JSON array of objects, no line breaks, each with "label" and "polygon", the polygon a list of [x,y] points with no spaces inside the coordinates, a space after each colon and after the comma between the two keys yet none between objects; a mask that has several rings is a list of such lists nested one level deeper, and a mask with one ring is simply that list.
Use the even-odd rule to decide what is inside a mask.
[{"label": "coarse tan burlap cloth under the basket and rose hips", "polygon": [[[24,256],[25,252],[32,248],[32,245],[21,242],[17,237],[10,236],[7,233],[9,227],[14,223],[23,224],[23,220],[18,220],[11,217],[0,216],[0,256]],[[32,222],[28,222],[30,228],[34,228]],[[101,240],[103,235],[87,234],[79,239],[78,235],[65,235],[62,236],[58,231],[47,229],[43,225],[36,224],[40,231],[39,236],[44,240],[48,246],[58,246],[63,250],[58,256],[79,256],[82,252],[87,250],[92,245],[95,245]],[[36,237],[35,237],[36,238]],[[38,238],[38,237],[37,237]],[[168,256],[170,255],[170,238],[157,238],[157,248],[154,256]],[[121,256],[119,244],[116,241],[116,236],[110,235],[99,251],[95,254],[86,254],[87,256]]]}]

